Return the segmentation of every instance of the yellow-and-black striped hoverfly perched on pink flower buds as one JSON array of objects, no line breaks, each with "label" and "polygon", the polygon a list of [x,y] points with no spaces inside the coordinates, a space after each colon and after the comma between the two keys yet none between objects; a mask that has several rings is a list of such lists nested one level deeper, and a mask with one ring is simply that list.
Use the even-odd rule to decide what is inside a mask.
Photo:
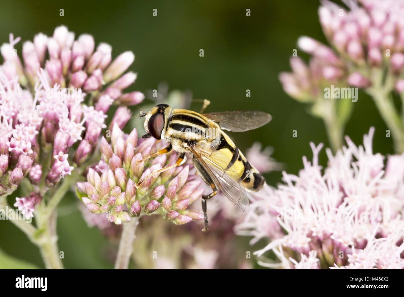
[{"label": "yellow-and-black striped hoverfly perched on pink flower buds", "polygon": [[189,153],[196,171],[212,189],[212,193],[202,195],[202,231],[208,230],[206,200],[215,196],[218,190],[241,211],[247,211],[249,202],[246,192],[260,190],[265,179],[223,130],[242,132],[258,128],[271,120],[269,114],[259,111],[200,114],[158,104],[147,113],[141,111],[139,118],[145,118],[144,128],[147,134],[143,138],[154,137],[168,142],[167,147],[145,159],[167,154],[172,150],[179,153],[179,158],[175,164],[143,178],[136,187],[156,173],[180,166],[186,161],[185,154]]}]

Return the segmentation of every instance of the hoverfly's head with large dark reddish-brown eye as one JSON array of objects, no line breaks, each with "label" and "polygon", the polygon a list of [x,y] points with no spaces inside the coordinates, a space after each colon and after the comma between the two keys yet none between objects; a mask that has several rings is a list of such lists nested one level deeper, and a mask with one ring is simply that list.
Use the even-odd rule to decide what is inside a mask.
[{"label": "hoverfly's head with large dark reddish-brown eye", "polygon": [[140,112],[139,118],[145,118],[143,124],[147,134],[143,138],[153,136],[156,139],[164,138],[167,120],[171,116],[171,107],[167,104],[159,104],[153,107],[148,113]]}]

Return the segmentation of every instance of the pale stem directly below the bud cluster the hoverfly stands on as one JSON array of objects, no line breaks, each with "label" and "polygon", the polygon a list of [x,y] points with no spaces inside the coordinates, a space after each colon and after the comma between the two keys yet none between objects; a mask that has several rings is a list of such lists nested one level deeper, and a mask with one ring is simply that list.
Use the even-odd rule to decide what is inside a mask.
[{"label": "pale stem directly below the bud cluster the hoverfly stands on", "polygon": [[121,240],[119,242],[118,255],[116,256],[115,269],[128,269],[130,256],[133,252],[133,241],[135,240],[136,226],[139,223],[137,218],[123,223]]}]

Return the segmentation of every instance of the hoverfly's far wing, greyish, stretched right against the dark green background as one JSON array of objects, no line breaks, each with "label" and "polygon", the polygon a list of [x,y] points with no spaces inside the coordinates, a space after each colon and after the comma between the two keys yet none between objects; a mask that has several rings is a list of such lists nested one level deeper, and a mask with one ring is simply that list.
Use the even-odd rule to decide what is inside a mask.
[{"label": "hoverfly's far wing, greyish, stretched right against the dark green background", "polygon": [[253,110],[236,112],[212,112],[203,114],[206,118],[218,122],[222,129],[234,132],[244,132],[267,124],[271,115]]}]

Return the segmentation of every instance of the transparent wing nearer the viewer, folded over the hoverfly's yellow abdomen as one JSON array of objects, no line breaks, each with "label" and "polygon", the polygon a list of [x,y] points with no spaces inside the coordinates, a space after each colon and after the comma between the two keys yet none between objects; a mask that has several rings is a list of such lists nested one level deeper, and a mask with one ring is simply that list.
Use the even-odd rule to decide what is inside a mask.
[{"label": "transparent wing nearer the viewer, folded over the hoverfly's yellow abdomen", "polygon": [[241,211],[248,212],[249,201],[244,186],[240,185],[234,171],[225,170],[231,159],[220,151],[206,149],[204,145],[209,144],[200,141],[196,145],[190,145],[189,150],[227,199]]}]

